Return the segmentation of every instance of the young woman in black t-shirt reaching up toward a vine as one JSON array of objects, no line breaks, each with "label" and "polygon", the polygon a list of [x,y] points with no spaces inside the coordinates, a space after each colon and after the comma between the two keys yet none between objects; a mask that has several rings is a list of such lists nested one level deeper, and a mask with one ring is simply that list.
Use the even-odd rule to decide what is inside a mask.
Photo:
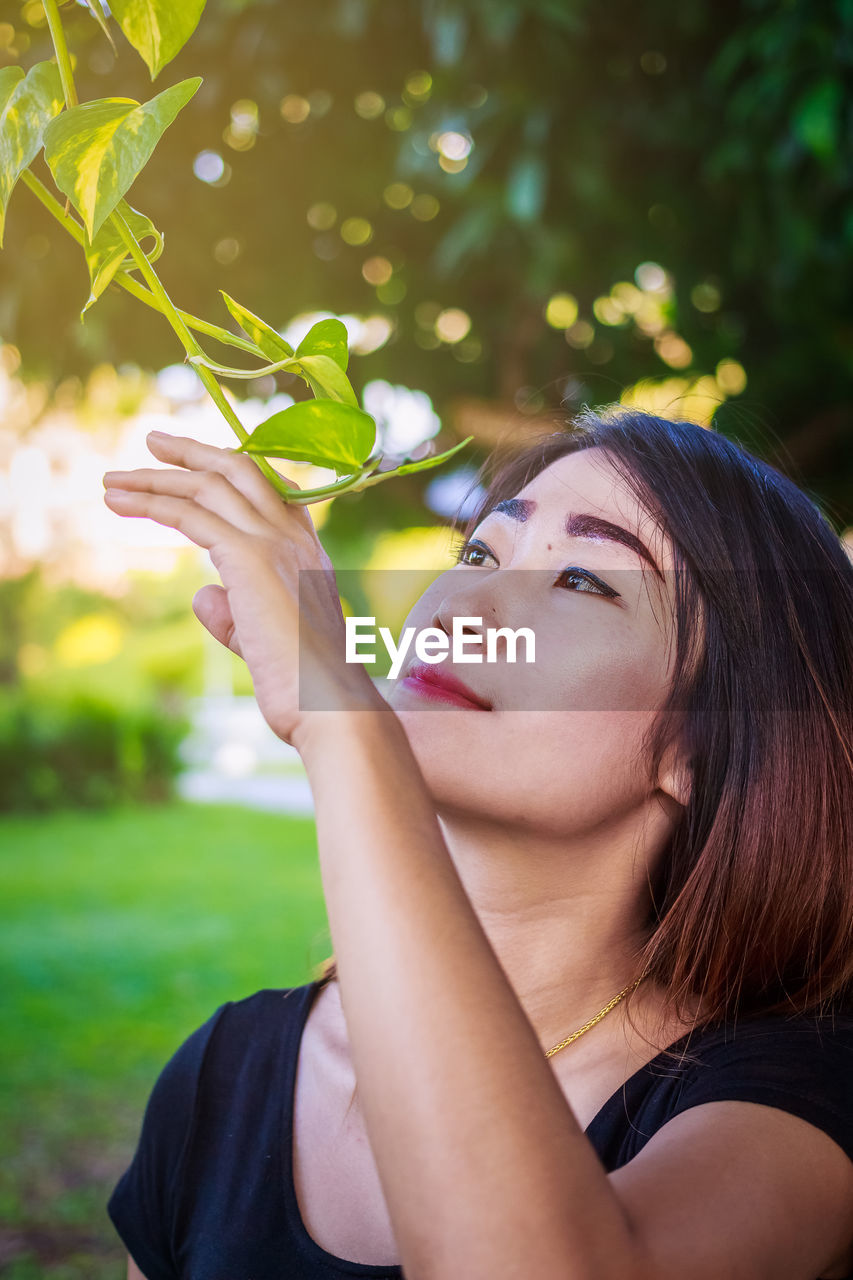
[{"label": "young woman in black t-shirt reaching up toward a vine", "polygon": [[535,660],[410,658],[386,701],[307,511],[150,448],[106,502],[210,552],[193,608],[305,762],[336,965],[164,1068],[128,1276],[852,1275],[853,566],[812,500],[587,412],[407,620]]}]

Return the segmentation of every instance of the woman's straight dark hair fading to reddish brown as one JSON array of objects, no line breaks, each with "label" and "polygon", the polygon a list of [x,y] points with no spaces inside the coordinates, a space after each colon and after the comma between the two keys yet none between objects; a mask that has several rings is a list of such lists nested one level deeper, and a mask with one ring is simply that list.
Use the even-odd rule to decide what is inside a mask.
[{"label": "woman's straight dark hair fading to reddish brown", "polygon": [[[816,500],[717,431],[585,410],[480,472],[469,536],[565,454],[598,447],[671,540],[675,662],[648,740],[690,796],[637,955],[695,1025],[853,1012],[853,563]],[[697,620],[702,620],[701,626]],[[334,959],[321,980],[334,977]]]}]

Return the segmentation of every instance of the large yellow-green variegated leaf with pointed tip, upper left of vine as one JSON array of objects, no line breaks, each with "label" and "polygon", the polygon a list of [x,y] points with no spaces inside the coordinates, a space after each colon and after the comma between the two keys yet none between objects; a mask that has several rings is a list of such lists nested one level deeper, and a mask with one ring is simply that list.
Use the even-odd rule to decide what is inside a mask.
[{"label": "large yellow-green variegated leaf with pointed tip, upper left of vine", "polygon": [[193,76],[143,104],[132,97],[102,97],[72,106],[50,122],[45,157],[56,186],[83,219],[90,241],[200,84],[201,77]]}]

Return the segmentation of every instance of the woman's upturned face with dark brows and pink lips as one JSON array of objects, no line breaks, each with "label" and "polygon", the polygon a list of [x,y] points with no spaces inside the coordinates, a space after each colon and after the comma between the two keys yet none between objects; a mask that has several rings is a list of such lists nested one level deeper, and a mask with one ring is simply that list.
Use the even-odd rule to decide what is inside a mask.
[{"label": "woman's upturned face with dark brows and pink lips", "polygon": [[[484,657],[488,628],[526,627],[535,652],[526,662],[520,640],[510,662],[497,637],[496,660],[450,653],[424,667],[412,645],[388,700],[439,813],[570,835],[642,804],[657,785],[642,737],[669,689],[672,567],[669,540],[598,448],[558,458],[480,521],[405,626],[452,636],[460,620],[466,652]],[[444,677],[488,709],[430,684]]]}]

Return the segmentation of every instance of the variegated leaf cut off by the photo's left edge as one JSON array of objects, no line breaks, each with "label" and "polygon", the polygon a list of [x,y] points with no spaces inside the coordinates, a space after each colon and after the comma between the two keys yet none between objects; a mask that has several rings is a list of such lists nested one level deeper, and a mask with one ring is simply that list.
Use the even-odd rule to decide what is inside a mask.
[{"label": "variegated leaf cut off by the photo's left edge", "polygon": [[0,70],[0,244],[6,207],[23,170],[41,150],[45,125],[63,109],[56,63]]}]

